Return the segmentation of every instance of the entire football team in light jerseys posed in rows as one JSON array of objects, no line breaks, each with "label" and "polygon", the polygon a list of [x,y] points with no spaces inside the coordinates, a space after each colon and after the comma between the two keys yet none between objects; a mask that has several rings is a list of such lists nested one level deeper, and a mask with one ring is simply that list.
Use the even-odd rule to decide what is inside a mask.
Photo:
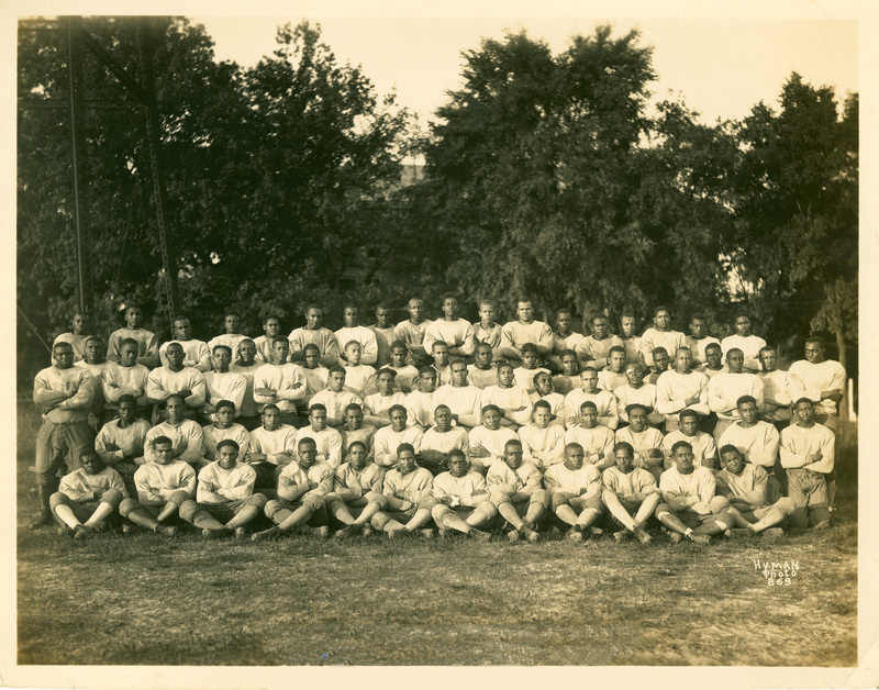
[{"label": "entire football team in light jerseys posed in rows", "polygon": [[[77,314],[73,333],[55,343],[55,366],[34,386],[44,419],[35,524],[54,514],[86,536],[119,509],[156,531],[173,531],[166,523],[179,516],[216,536],[242,535],[265,514],[276,526],[259,538],[307,523],[325,527],[329,512],[348,525],[341,534],[369,525],[413,532],[431,519],[441,532],[481,534],[501,520],[511,538],[536,538],[550,505],[572,538],[590,534],[585,528],[602,512],[621,537],[643,541],[654,514],[672,535],[696,539],[734,525],[761,532],[786,519],[828,523],[827,427],[838,427],[845,372],[824,359],[820,338],[806,341],[804,360],[779,371],[775,349],[750,333],[745,314],[735,318],[736,335],[719,343],[699,316],[690,336],[671,331],[666,308],[641,338],[626,333],[631,316],[623,337],[609,333],[604,316],[592,319],[589,336],[570,333],[567,310],[553,332],[533,320],[526,300],[503,327],[489,302],[479,324],[458,319],[452,296],[442,320],[423,320],[418,299],[409,311],[394,329],[379,305],[376,325],[364,327],[346,307],[346,326],[333,334],[311,307],[303,329],[278,336],[269,318],[254,341],[234,332],[230,314],[230,332],[210,343],[193,340],[181,318],[177,340],[159,348],[130,308],[127,327],[108,341],[109,360]],[[84,359],[74,366],[77,346]],[[704,365],[694,369],[700,356]],[[104,416],[119,419],[102,424]],[[76,471],[55,492],[65,468]],[[422,478],[416,489],[407,478],[413,472]],[[388,501],[411,514],[389,518]]]}]

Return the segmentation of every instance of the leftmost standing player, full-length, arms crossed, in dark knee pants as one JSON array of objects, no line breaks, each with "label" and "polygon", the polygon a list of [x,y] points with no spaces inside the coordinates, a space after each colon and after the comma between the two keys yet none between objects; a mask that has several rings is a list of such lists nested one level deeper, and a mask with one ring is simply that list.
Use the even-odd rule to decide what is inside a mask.
[{"label": "leftmost standing player, full-length, arms crossed, in dark knee pants", "polygon": [[40,498],[40,515],[31,528],[52,524],[49,497],[58,486],[63,464],[78,469],[80,457],[91,450],[93,432],[88,423],[94,398],[94,379],[86,369],[74,366],[74,348],[58,343],[52,348],[54,366],[34,378],[34,404],[43,424],[36,434],[34,474]]}]

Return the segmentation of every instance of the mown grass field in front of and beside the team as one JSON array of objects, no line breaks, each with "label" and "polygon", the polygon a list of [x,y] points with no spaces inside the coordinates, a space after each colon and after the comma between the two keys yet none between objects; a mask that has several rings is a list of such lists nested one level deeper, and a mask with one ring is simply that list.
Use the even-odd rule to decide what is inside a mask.
[{"label": "mown grass field in front of and beside the team", "polygon": [[[20,404],[20,525],[37,426]],[[20,526],[19,664],[854,666],[849,435],[837,525],[779,541],[75,543]],[[799,571],[769,586],[764,561]]]}]

